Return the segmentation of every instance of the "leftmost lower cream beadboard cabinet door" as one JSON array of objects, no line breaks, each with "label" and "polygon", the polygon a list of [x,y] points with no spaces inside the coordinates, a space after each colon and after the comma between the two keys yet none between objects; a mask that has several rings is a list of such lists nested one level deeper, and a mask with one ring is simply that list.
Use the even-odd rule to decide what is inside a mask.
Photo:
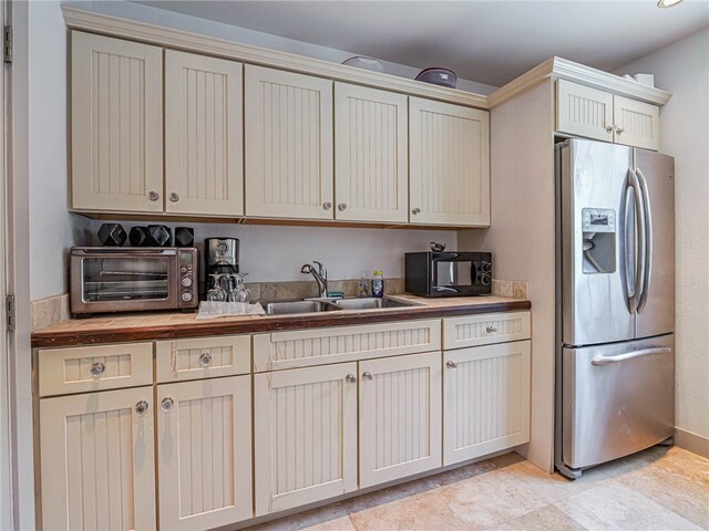
[{"label": "leftmost lower cream beadboard cabinet door", "polygon": [[40,400],[42,527],[155,529],[153,387]]}]

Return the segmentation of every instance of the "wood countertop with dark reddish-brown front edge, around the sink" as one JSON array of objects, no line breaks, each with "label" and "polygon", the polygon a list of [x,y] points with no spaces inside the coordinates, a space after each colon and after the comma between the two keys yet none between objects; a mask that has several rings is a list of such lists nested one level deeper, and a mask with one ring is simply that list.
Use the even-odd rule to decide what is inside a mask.
[{"label": "wood countertop with dark reddish-brown front edge, around the sink", "polygon": [[510,312],[530,310],[532,308],[532,303],[527,300],[494,295],[425,299],[402,294],[393,295],[391,299],[411,301],[420,305],[290,315],[233,315],[206,320],[197,320],[196,313],[179,312],[112,314],[89,319],[71,319],[40,329],[32,334],[32,346],[97,345],[126,341],[172,340],[322,326],[348,326],[388,321]]}]

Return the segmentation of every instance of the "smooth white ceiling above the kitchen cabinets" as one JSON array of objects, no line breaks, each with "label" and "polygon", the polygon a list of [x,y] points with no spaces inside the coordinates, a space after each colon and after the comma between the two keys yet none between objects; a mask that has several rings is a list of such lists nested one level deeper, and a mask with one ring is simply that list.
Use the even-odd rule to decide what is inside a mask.
[{"label": "smooth white ceiling above the kitchen cabinets", "polygon": [[613,71],[709,25],[709,0],[137,3],[496,86],[552,55]]}]

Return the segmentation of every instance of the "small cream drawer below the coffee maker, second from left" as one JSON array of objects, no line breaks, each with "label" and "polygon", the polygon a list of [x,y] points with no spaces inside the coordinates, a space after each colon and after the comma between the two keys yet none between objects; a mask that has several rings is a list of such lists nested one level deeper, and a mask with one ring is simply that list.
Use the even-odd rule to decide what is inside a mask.
[{"label": "small cream drawer below the coffee maker, second from left", "polygon": [[214,378],[251,372],[251,337],[227,335],[158,341],[157,383]]}]

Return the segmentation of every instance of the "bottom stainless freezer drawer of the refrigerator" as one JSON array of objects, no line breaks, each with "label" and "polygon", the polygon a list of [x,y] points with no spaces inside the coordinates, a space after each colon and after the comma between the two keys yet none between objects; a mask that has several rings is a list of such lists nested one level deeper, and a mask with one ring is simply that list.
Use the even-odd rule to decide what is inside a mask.
[{"label": "bottom stainless freezer drawer of the refrigerator", "polygon": [[563,461],[586,468],[674,435],[675,335],[563,350]]}]

